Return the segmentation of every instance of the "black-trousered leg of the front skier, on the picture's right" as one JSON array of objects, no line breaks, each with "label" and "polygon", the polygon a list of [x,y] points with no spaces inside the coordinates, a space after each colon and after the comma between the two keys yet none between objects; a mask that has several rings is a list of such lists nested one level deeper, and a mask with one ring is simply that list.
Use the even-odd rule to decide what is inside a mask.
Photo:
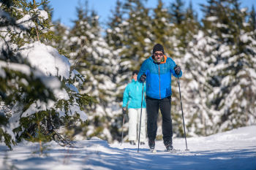
[{"label": "black-trousered leg of the front skier, on the picture's right", "polygon": [[162,138],[165,146],[173,145],[173,125],[170,115],[170,102],[171,97],[163,98],[159,101],[159,107],[162,113]]}]

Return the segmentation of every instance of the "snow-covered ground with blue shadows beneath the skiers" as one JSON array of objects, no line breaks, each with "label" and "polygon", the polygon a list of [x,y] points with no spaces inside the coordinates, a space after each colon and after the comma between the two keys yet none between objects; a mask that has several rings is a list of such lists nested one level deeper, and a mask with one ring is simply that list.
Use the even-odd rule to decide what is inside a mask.
[{"label": "snow-covered ground with blue shadows beneath the skiers", "polygon": [[98,139],[75,142],[75,147],[60,147],[49,142],[47,155],[33,153],[38,144],[23,142],[7,151],[0,144],[0,169],[256,169],[256,125],[207,137],[173,139],[176,154],[164,152],[162,141],[157,153],[148,146],[129,143],[108,144]]}]

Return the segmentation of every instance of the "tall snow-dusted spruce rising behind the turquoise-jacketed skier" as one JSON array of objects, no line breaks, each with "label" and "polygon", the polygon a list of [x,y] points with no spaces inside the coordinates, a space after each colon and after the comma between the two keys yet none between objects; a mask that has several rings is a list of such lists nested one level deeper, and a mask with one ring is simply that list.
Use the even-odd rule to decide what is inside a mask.
[{"label": "tall snow-dusted spruce rising behind the turquoise-jacketed skier", "polygon": [[[118,5],[121,5],[121,9]],[[152,43],[151,31],[148,31],[151,30],[149,9],[144,7],[143,1],[127,0],[123,3],[117,1],[116,6],[107,36],[113,37],[108,43],[113,47],[114,58],[118,65],[115,68],[118,74],[114,82],[116,82],[116,101],[121,106],[124,84],[130,81],[132,71],[140,69],[143,60],[151,55]]]}]

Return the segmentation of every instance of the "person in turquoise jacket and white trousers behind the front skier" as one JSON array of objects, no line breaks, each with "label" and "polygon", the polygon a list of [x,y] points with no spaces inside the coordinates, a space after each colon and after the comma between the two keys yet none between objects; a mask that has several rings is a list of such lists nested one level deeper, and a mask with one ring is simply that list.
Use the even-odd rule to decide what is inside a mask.
[{"label": "person in turquoise jacket and white trousers behind the front skier", "polygon": [[[124,90],[123,96],[123,114],[126,113],[128,108],[129,117],[129,143],[135,145],[138,140],[140,130],[140,144],[145,144],[146,140],[146,101],[145,92],[146,85],[143,90],[143,109],[141,114],[140,125],[140,112],[141,112],[141,99],[143,83],[137,81],[138,71],[132,72],[132,82],[130,82]],[[127,106],[128,105],[128,106]]]}]

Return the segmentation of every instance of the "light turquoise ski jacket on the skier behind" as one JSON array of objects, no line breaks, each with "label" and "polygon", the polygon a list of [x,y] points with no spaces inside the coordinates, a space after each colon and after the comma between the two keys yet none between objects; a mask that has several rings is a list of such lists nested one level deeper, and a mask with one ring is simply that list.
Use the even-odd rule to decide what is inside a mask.
[{"label": "light turquoise ski jacket on the skier behind", "polygon": [[[141,82],[138,82],[132,79],[132,82],[130,82],[124,90],[123,107],[127,107],[127,104],[128,104],[128,107],[127,107],[128,109],[141,108],[142,87],[143,87],[143,84]],[[146,85],[144,85],[144,90],[143,90],[143,108],[146,108],[145,93],[146,93]]]}]

